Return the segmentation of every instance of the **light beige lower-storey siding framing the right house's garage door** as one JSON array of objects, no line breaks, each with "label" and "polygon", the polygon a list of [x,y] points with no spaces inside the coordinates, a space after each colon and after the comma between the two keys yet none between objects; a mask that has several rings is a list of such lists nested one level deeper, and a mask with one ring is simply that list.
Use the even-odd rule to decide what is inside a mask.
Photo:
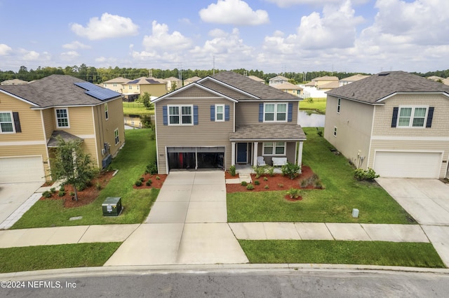
[{"label": "light beige lower-storey siding framing the right house's garage door", "polygon": [[[446,138],[447,139],[447,138]],[[438,139],[416,139],[393,141],[393,140],[373,140],[371,142],[370,160],[368,166],[373,167],[375,152],[382,151],[408,151],[408,152],[443,152],[443,160],[441,162],[440,178],[444,178],[448,170],[449,159],[449,139],[441,141]]]}]

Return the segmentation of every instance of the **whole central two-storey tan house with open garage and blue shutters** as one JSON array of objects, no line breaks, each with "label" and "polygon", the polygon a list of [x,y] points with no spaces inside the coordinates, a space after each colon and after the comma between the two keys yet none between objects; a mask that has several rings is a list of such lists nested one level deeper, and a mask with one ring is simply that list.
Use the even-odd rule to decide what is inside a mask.
[{"label": "whole central two-storey tan house with open garage and blue shutters", "polygon": [[300,98],[222,71],[154,99],[159,173],[229,169],[286,157],[302,164]]}]

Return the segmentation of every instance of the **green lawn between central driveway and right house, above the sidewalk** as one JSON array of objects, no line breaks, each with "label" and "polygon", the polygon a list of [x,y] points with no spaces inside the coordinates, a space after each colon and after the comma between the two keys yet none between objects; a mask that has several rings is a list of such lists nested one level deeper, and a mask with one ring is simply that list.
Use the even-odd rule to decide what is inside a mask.
[{"label": "green lawn between central driveway and right house, above the sidewalk", "polygon": [[[353,178],[354,169],[330,144],[304,128],[302,161],[321,178],[325,190],[302,190],[302,201],[286,201],[286,191],[234,192],[227,194],[229,222],[364,222],[410,224],[413,218],[376,183]],[[358,208],[358,218],[352,218]]]}]

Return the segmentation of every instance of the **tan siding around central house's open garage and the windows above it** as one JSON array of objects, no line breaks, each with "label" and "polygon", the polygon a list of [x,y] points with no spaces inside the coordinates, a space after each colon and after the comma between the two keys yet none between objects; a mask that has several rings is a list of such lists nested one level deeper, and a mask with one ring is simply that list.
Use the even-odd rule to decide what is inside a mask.
[{"label": "tan siding around central house's open garage and the windows above it", "polygon": [[[198,125],[163,125],[162,107],[166,105],[192,104],[198,106]],[[210,121],[210,106],[229,105],[229,121]],[[166,147],[177,146],[225,146],[225,167],[231,166],[229,133],[234,128],[234,104],[227,99],[164,99],[156,103],[157,149],[159,173],[166,173]]]}]

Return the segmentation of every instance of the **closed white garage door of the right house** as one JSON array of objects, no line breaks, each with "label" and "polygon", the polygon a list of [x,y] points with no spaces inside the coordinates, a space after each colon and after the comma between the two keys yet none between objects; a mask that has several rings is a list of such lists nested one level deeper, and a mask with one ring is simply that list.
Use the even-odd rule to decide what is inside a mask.
[{"label": "closed white garage door of the right house", "polygon": [[381,177],[438,178],[441,153],[377,151],[374,170]]}]

